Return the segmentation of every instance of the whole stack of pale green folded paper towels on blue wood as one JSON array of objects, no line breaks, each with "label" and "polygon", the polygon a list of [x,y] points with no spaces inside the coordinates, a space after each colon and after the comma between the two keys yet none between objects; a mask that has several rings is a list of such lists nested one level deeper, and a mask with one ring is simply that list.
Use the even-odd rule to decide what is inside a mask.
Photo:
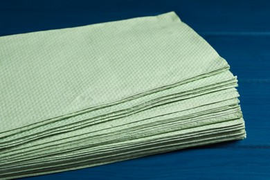
[{"label": "whole stack of pale green folded paper towels on blue wood", "polygon": [[0,37],[0,177],[245,138],[237,78],[174,12]]}]

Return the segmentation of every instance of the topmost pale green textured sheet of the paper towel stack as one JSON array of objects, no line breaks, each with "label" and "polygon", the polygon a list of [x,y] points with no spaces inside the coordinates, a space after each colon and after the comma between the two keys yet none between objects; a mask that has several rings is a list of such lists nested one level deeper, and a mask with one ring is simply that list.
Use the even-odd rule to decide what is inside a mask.
[{"label": "topmost pale green textured sheet of the paper towel stack", "polygon": [[224,66],[174,12],[0,37],[0,133]]}]

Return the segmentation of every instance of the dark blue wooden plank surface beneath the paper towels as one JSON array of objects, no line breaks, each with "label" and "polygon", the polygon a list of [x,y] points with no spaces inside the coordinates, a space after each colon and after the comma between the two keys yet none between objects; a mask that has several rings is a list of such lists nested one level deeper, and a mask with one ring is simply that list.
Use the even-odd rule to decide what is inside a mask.
[{"label": "dark blue wooden plank surface beneath the paper towels", "polygon": [[0,36],[172,10],[238,76],[247,138],[26,179],[270,179],[270,1],[0,1]]}]

